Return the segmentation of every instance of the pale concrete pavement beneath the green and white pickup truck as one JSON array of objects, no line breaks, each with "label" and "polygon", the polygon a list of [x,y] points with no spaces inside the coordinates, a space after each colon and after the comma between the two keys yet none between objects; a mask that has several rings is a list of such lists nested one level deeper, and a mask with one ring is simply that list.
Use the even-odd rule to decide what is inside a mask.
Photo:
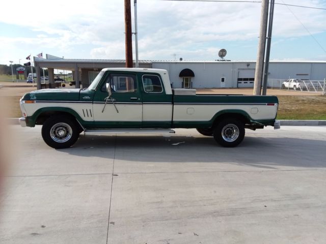
[{"label": "pale concrete pavement beneath the green and white pickup truck", "polygon": [[196,130],[48,147],[12,126],[17,156],[0,243],[325,243],[326,127],[247,130],[237,148]]}]

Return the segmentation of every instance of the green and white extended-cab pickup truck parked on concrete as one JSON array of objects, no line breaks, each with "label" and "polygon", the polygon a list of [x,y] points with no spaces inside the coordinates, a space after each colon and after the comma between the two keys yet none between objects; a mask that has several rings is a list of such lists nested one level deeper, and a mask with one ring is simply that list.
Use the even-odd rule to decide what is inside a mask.
[{"label": "green and white extended-cab pickup truck parked on concrete", "polygon": [[79,134],[174,133],[196,128],[225,147],[237,146],[244,129],[280,128],[274,96],[196,95],[172,89],[166,70],[107,68],[83,89],[42,89],[20,100],[22,127],[42,126],[53,148],[73,145]]}]

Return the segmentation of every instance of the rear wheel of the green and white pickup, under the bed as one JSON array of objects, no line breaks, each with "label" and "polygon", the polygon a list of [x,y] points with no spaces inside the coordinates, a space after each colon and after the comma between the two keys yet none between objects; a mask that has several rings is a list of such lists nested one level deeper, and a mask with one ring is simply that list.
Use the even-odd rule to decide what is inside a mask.
[{"label": "rear wheel of the green and white pickup, under the bed", "polygon": [[244,124],[234,118],[222,120],[214,130],[214,139],[221,146],[235,147],[244,138]]}]

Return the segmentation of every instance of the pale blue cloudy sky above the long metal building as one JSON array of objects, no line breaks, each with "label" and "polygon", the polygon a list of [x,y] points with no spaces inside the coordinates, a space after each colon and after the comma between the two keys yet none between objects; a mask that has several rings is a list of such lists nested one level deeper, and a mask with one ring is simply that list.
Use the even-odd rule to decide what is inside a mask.
[{"label": "pale blue cloudy sky above the long metal building", "polygon": [[[140,59],[174,60],[177,54],[183,60],[215,60],[225,48],[227,59],[256,60],[260,3],[137,2]],[[276,3],[326,8],[326,0]],[[19,59],[22,64],[40,52],[125,59],[124,41],[124,0],[2,3],[0,64]],[[326,60],[325,50],[326,10],[275,6],[271,60]]]}]

